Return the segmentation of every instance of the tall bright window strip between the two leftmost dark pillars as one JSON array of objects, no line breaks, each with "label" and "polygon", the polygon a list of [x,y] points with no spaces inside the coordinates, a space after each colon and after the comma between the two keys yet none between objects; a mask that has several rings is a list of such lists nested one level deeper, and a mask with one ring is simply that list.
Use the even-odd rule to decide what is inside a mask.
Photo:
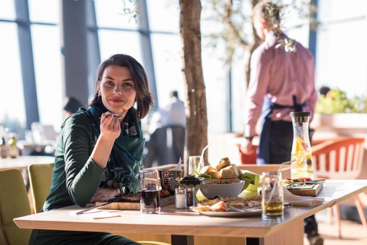
[{"label": "tall bright window strip between the two leftmost dark pillars", "polygon": [[[62,66],[57,0],[29,0],[39,119],[60,130],[62,124]],[[47,11],[45,11],[45,8]]]}]

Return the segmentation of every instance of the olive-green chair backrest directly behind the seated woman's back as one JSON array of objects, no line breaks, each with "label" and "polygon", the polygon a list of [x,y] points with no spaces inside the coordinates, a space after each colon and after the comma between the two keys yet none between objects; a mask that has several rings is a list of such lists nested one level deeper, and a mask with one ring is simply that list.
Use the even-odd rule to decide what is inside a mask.
[{"label": "olive-green chair backrest directly behind the seated woman's back", "polygon": [[53,179],[53,163],[28,166],[29,183],[32,190],[34,213],[42,211],[43,203],[50,193]]}]

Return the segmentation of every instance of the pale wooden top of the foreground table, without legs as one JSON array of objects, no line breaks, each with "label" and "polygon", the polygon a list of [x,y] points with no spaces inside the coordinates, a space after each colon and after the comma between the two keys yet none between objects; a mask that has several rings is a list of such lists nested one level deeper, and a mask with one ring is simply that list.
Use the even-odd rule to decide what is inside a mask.
[{"label": "pale wooden top of the foreground table, without legs", "polygon": [[[367,180],[326,181],[317,197],[325,202],[317,207],[292,207],[285,210],[284,221],[266,223],[261,217],[217,218],[179,211],[174,207],[162,207],[162,214],[141,214],[140,211],[113,211],[120,216],[94,219],[95,214],[76,216],[80,207],[63,209],[23,216],[14,221],[20,228],[45,230],[80,230],[95,232],[131,232],[174,235],[202,235],[221,237],[266,237],[300,221],[307,216],[331,207],[342,200],[367,190]],[[102,212],[102,211],[101,211]]]}]

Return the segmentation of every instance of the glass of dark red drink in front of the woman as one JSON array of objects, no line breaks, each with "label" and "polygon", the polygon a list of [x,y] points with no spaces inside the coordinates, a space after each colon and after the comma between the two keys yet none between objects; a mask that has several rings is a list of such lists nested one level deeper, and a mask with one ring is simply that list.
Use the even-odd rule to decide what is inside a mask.
[{"label": "glass of dark red drink in front of the woman", "polygon": [[158,214],[160,212],[159,193],[160,180],[157,170],[141,170],[140,175],[140,211],[146,214]]}]

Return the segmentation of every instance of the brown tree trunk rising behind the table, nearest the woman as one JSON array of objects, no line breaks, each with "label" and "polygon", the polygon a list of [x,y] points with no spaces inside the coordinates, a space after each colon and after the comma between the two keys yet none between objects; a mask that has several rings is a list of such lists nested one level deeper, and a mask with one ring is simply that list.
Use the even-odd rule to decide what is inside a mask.
[{"label": "brown tree trunk rising behind the table, nearest the woman", "polygon": [[[207,145],[207,100],[202,75],[200,0],[180,0],[180,36],[186,90],[186,146],[189,155],[200,155]],[[207,158],[205,158],[207,159]]]}]

